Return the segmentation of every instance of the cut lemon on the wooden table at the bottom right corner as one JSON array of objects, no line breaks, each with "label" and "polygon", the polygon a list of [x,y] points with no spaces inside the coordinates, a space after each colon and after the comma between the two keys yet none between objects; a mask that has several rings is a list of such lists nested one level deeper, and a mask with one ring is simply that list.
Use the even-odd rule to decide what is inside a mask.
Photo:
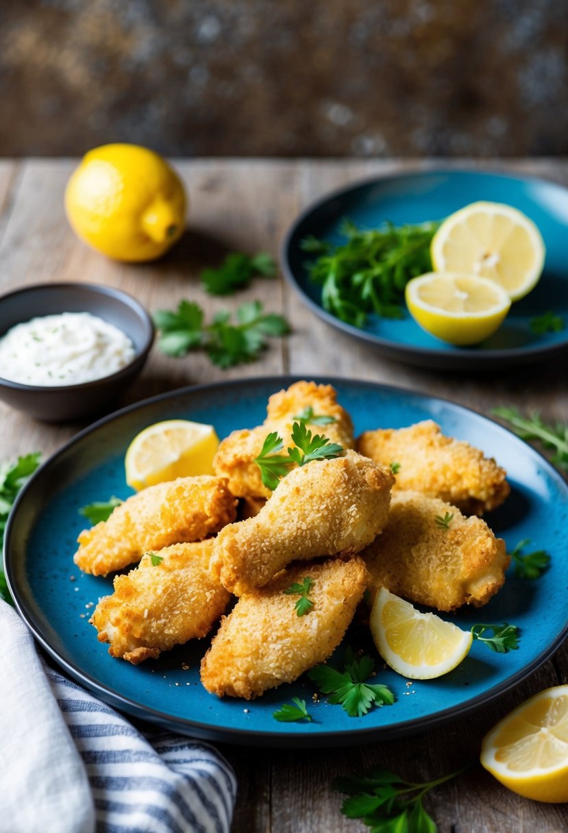
[{"label": "cut lemon on the wooden table at the bottom right corner", "polygon": [[519,796],[568,801],[568,686],[540,691],[484,737],[481,765]]}]

